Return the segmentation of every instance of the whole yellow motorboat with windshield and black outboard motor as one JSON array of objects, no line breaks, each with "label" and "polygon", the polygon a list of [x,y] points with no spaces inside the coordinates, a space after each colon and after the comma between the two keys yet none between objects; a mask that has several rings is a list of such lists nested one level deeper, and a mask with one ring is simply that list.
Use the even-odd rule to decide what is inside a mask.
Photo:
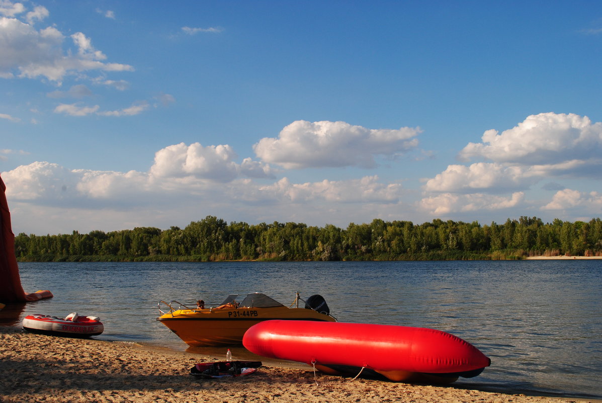
[{"label": "whole yellow motorboat with windshield and black outboard motor", "polygon": [[[337,321],[320,295],[305,301],[297,293],[290,307],[262,293],[250,293],[240,304],[237,297],[238,294],[229,295],[218,307],[204,309],[189,308],[178,301],[160,301],[161,316],[157,320],[193,347],[240,345],[244,332],[262,320]],[[299,301],[305,302],[305,307],[299,308]]]}]

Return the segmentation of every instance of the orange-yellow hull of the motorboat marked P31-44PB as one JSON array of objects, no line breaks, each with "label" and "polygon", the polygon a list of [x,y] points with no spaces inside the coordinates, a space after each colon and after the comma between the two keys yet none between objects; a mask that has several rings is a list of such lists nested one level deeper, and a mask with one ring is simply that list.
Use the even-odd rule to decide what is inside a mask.
[{"label": "orange-yellow hull of the motorboat marked P31-44PB", "polygon": [[265,320],[332,321],[336,319],[305,308],[233,308],[176,310],[157,320],[192,347],[240,345],[251,326]]}]

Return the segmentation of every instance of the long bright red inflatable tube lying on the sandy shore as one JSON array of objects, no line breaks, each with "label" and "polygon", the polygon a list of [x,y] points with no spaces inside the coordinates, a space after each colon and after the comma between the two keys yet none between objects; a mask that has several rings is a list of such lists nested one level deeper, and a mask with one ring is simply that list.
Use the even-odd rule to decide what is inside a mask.
[{"label": "long bright red inflatable tube lying on the sandy shore", "polygon": [[392,381],[450,383],[479,375],[491,360],[475,346],[429,328],[368,323],[267,320],[243,337],[264,357],[315,365],[331,374],[360,369]]}]

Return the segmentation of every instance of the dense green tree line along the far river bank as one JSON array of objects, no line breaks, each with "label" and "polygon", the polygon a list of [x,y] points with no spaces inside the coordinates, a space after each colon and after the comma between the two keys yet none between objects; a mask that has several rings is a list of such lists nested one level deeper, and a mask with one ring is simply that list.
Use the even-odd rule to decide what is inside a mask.
[{"label": "dense green tree line along the far river bank", "polygon": [[207,216],[184,229],[15,237],[19,261],[454,260],[529,255],[602,255],[602,222],[538,217],[503,224],[441,219],[350,223],[346,229],[303,223],[227,223]]}]

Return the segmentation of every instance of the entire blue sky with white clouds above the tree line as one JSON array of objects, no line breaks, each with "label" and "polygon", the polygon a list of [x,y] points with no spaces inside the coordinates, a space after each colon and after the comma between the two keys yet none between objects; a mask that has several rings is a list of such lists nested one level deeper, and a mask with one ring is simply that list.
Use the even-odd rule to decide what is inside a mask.
[{"label": "entire blue sky with white clouds above the tree line", "polygon": [[0,0],[15,233],[602,216],[602,4]]}]

